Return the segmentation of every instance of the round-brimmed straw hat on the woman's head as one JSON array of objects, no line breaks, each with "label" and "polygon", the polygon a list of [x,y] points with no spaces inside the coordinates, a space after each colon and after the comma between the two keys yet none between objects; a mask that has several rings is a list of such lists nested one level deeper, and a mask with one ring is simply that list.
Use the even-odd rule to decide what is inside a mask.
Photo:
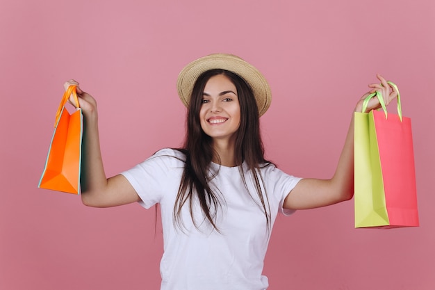
[{"label": "round-brimmed straw hat on the woman's head", "polygon": [[177,81],[177,89],[181,102],[185,106],[188,106],[190,102],[193,86],[198,76],[207,70],[213,69],[229,70],[244,79],[254,92],[259,115],[263,115],[268,111],[270,102],[272,102],[272,93],[268,81],[253,65],[232,54],[210,54],[192,61],[181,70]]}]

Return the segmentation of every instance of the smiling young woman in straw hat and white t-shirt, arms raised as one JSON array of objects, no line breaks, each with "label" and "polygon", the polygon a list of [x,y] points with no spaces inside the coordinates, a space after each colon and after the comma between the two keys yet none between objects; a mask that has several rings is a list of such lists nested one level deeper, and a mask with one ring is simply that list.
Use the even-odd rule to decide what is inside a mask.
[{"label": "smiling young woman in straw hat and white t-shirt, arms raised", "polygon": [[[386,80],[370,84],[388,104]],[[67,86],[78,86],[67,81]],[[300,179],[264,159],[259,116],[270,106],[268,82],[229,54],[193,61],[180,73],[188,107],[183,148],[163,149],[107,178],[99,146],[97,103],[77,88],[85,118],[82,200],[91,207],[140,202],[161,207],[161,289],[266,289],[263,260],[278,211],[324,207],[353,195],[353,118],[331,179]],[[376,98],[369,110],[379,107]],[[355,111],[361,111],[362,99]]]}]

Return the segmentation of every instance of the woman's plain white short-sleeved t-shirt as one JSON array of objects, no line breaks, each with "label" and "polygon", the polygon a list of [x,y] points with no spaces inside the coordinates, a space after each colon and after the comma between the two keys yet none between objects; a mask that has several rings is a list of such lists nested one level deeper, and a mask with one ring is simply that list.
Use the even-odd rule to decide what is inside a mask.
[{"label": "woman's plain white short-sleeved t-shirt", "polygon": [[[163,149],[122,172],[140,196],[143,207],[148,209],[156,203],[161,207],[161,290],[266,289],[268,278],[262,271],[270,231],[251,175],[244,170],[249,195],[238,167],[212,163],[211,170],[218,170],[211,188],[220,196],[215,222],[220,232],[204,219],[195,201],[192,211],[199,228],[192,223],[188,202],[181,211],[183,227],[179,228],[174,224],[173,211],[185,159],[177,150]],[[273,225],[284,199],[300,179],[273,165],[262,168],[261,176]],[[292,212],[283,210],[286,215]]]}]

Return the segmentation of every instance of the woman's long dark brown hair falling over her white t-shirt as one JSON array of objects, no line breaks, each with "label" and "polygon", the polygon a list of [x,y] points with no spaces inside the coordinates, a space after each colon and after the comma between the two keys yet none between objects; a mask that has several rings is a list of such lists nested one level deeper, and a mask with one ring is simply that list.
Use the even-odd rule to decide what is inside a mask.
[{"label": "woman's long dark brown hair falling over her white t-shirt", "polygon": [[[258,200],[263,208],[266,224],[269,229],[270,207],[268,195],[267,193],[263,195],[261,189],[261,185],[263,185],[264,190],[265,186],[260,173],[260,167],[268,166],[271,163],[264,159],[264,147],[260,136],[258,108],[254,99],[254,93],[245,80],[227,70],[208,70],[198,77],[193,87],[187,113],[186,139],[183,148],[179,149],[186,154],[186,165],[181,177],[177,200],[174,204],[174,222],[179,227],[183,227],[183,220],[180,216],[181,208],[188,205],[192,221],[195,227],[198,227],[199,224],[192,213],[193,202],[197,199],[204,214],[204,220],[208,220],[213,228],[219,231],[215,224],[215,218],[222,199],[219,196],[220,193],[212,191],[209,186],[209,182],[213,179],[213,175],[211,175],[209,170],[211,161],[213,156],[217,159],[219,159],[219,156],[213,150],[212,138],[204,133],[199,120],[199,111],[202,106],[204,88],[208,79],[217,74],[227,76],[234,86],[236,86],[240,104],[240,126],[236,132],[234,146],[235,162],[236,165],[238,165],[240,176],[242,177],[247,191],[247,183],[243,173],[243,167],[241,166],[243,162],[247,166],[250,175],[252,175]],[[219,191],[219,188],[217,188],[217,191]],[[255,200],[252,195],[251,197]]]}]

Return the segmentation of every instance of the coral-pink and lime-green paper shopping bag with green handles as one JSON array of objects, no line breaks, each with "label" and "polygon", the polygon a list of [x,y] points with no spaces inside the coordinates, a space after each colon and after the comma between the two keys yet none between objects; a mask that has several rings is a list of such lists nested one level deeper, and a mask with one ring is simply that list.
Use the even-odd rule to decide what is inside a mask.
[{"label": "coral-pink and lime-green paper shopping bag with green handles", "polygon": [[418,226],[411,119],[402,117],[400,94],[397,115],[380,92],[364,100],[363,112],[372,97],[384,112],[354,113],[355,227]]}]

